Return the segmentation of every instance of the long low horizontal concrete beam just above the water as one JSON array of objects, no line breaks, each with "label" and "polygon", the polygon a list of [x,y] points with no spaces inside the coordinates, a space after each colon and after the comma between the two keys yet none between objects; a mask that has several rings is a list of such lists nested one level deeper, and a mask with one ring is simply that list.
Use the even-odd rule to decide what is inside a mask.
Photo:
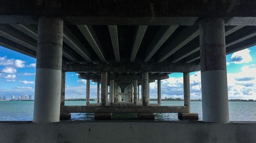
[{"label": "long low horizontal concrete beam just above the water", "polygon": [[62,106],[62,112],[101,112],[101,113],[177,113],[188,112],[186,106]]}]

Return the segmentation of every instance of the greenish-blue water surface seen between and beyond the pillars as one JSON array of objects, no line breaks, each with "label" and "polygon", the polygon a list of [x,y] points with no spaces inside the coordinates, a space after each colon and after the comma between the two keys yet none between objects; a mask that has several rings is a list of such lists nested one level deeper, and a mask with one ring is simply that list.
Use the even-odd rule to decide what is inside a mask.
[{"label": "greenish-blue water surface seen between and beyond the pillars", "polygon": [[[96,103],[91,101],[90,103]],[[157,103],[151,101],[150,103]],[[65,105],[86,105],[86,101],[66,101]],[[162,101],[162,106],[182,106],[183,101]],[[32,121],[34,101],[0,101],[0,121]],[[202,120],[202,102],[191,101],[191,112]],[[93,113],[72,113],[71,120],[94,120]],[[256,121],[256,102],[229,101],[230,121]],[[156,113],[158,121],[177,121],[177,113]]]}]

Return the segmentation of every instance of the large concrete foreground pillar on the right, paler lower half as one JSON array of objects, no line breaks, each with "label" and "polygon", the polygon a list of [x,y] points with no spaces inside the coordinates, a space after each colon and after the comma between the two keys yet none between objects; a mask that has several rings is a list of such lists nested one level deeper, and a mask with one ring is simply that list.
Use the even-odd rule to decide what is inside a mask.
[{"label": "large concrete foreground pillar on the right, paler lower half", "polygon": [[200,21],[203,121],[229,122],[225,27],[222,18]]}]

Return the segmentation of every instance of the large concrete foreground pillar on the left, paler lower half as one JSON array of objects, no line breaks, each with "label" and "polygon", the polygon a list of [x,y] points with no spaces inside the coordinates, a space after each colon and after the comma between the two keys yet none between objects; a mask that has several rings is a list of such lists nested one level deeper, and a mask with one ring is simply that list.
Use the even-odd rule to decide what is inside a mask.
[{"label": "large concrete foreground pillar on the left, paler lower half", "polygon": [[59,122],[63,20],[39,17],[33,122]]}]

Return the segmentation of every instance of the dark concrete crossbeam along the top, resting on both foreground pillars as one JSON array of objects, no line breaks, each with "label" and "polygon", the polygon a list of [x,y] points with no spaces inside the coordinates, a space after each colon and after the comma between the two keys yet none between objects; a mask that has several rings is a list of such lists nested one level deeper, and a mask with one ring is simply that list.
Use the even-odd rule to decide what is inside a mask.
[{"label": "dark concrete crossbeam along the top, resting on both foreground pillars", "polygon": [[[1,23],[37,23],[34,17],[62,17],[69,24],[193,25],[199,17],[223,17],[229,25],[255,25],[255,1],[57,1],[2,0]],[[136,6],[136,7],[134,7]],[[67,9],[70,8],[70,9]]]}]

